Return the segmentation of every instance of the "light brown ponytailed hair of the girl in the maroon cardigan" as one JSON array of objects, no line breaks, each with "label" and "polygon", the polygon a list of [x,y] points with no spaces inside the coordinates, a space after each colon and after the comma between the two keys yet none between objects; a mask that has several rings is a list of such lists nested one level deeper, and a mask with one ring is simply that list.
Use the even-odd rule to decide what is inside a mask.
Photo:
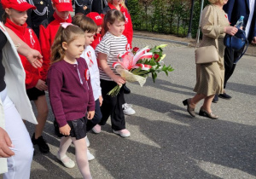
[{"label": "light brown ponytailed hair of the girl in the maroon cardigan", "polygon": [[62,47],[62,43],[72,43],[79,36],[84,36],[84,31],[79,26],[69,25],[66,28],[59,27],[55,36],[55,41],[51,46],[51,63],[62,61],[65,56],[65,49]]}]

